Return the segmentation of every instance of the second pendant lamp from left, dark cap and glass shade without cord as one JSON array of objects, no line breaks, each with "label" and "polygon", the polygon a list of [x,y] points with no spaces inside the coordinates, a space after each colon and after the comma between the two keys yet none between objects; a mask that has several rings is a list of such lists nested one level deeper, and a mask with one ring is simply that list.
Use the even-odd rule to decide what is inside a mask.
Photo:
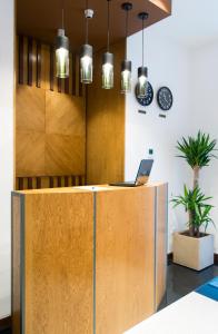
[{"label": "second pendant lamp from left, dark cap and glass shade without cord", "polygon": [[83,45],[80,55],[80,81],[91,84],[93,77],[93,49],[89,45]]}]

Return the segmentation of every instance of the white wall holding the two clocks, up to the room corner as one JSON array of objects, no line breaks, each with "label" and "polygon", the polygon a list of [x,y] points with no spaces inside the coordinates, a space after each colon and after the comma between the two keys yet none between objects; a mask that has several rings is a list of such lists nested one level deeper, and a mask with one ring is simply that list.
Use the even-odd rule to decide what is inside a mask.
[{"label": "white wall holding the two clocks, up to the room corner", "polygon": [[[161,30],[161,24],[159,29]],[[126,101],[126,179],[136,175],[139,161],[146,157],[149,148],[155,151],[155,166],[151,180],[169,183],[169,198],[178,195],[184,183],[189,181],[190,170],[185,161],[176,158],[176,143],[181,136],[191,132],[190,122],[190,75],[189,51],[176,42],[160,37],[161,31],[152,27],[146,29],[146,62],[149,69],[149,81],[155,90],[153,102],[140,107],[131,94]],[[133,84],[137,81],[137,68],[141,66],[141,33],[128,38],[128,58],[132,60]],[[135,85],[133,85],[135,86]],[[159,117],[156,94],[159,87],[168,86],[174,94],[174,106],[167,118]],[[148,115],[138,114],[138,109]],[[187,222],[181,209],[172,209],[169,204],[169,252],[171,233],[184,228]]]}]

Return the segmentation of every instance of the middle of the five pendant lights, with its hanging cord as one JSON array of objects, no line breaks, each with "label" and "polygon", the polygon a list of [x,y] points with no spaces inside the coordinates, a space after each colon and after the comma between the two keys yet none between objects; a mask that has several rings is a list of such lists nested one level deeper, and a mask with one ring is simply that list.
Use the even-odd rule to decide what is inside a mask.
[{"label": "middle of the five pendant lights, with its hanging cord", "polygon": [[110,52],[110,1],[108,1],[108,43],[102,57],[102,88],[113,88],[113,55]]}]

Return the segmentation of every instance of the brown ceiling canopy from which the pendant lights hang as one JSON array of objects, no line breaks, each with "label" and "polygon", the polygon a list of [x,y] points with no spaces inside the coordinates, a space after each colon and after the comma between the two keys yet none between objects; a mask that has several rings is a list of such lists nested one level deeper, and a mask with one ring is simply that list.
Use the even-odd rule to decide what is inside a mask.
[{"label": "brown ceiling canopy from which the pendant lights hang", "polygon": [[[111,42],[125,37],[125,12],[121,3],[125,0],[111,1]],[[147,26],[167,18],[171,12],[171,0],[131,0],[129,35],[141,29],[137,14],[149,13]],[[17,32],[31,36],[41,41],[53,43],[57,29],[61,26],[61,9],[65,8],[65,28],[70,38],[72,51],[78,51],[85,42],[85,0],[17,0]],[[89,42],[98,50],[106,46],[107,1],[89,0],[89,8],[95,17],[89,24]]]}]

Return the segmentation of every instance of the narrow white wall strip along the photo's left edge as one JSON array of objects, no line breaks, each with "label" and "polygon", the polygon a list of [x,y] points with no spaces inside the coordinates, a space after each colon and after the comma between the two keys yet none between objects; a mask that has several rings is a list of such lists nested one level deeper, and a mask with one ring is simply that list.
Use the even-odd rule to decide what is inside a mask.
[{"label": "narrow white wall strip along the photo's left edge", "polygon": [[10,314],[10,191],[13,187],[13,0],[0,0],[0,318]]}]

